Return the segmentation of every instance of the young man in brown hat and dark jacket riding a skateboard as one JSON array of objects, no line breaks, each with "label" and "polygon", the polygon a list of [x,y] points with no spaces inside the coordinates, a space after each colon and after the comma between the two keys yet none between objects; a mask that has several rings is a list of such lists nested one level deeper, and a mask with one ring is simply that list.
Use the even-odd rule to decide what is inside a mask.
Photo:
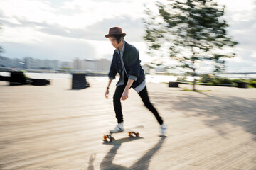
[{"label": "young man in brown hat and dark jacket riding a skateboard", "polygon": [[140,64],[141,61],[139,60],[139,52],[136,47],[129,45],[124,41],[125,35],[125,33],[122,33],[122,28],[119,27],[110,28],[109,33],[105,35],[106,38],[110,39],[114,48],[116,48],[116,50],[114,50],[110,72],[108,74],[110,80],[107,85],[105,98],[108,98],[110,84],[112,80],[115,79],[116,74],[118,73],[120,76],[113,96],[114,112],[118,125],[113,130],[110,130],[110,132],[124,131],[124,120],[120,99],[125,101],[129,97],[129,89],[132,87],[142,98],[146,108],[154,114],[160,125],[160,133],[161,135],[164,135],[166,125],[156,111],[156,108],[154,108],[149,101],[149,95],[146,91],[145,74]]}]

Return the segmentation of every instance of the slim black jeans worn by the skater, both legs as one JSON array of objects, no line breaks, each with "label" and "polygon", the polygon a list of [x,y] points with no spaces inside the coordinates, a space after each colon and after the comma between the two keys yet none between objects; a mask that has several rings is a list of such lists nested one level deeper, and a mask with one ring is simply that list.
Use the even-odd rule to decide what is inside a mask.
[{"label": "slim black jeans worn by the skater, both legs", "polygon": [[[124,121],[123,114],[122,114],[122,106],[121,106],[121,96],[124,91],[124,88],[125,88],[125,85],[117,86],[113,96],[114,112],[116,114],[117,123],[122,123]],[[146,106],[146,108],[148,108],[149,111],[151,111],[154,114],[154,116],[156,117],[156,120],[161,125],[163,123],[163,120],[160,117],[159,113],[156,111],[156,108],[154,108],[154,106],[149,101],[149,94],[146,91],[146,86],[142,91],[139,92],[139,96],[142,98],[142,101]]]}]

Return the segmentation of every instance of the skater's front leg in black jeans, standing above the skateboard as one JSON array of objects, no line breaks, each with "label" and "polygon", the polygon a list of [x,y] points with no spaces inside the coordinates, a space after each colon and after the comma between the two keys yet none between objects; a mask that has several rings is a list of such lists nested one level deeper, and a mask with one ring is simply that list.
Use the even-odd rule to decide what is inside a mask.
[{"label": "skater's front leg in black jeans, standing above the skateboard", "polygon": [[117,123],[122,123],[123,120],[123,114],[122,114],[122,106],[121,106],[121,96],[124,92],[124,85],[117,86],[114,96],[113,96],[113,103],[114,103],[114,112],[116,114]]}]

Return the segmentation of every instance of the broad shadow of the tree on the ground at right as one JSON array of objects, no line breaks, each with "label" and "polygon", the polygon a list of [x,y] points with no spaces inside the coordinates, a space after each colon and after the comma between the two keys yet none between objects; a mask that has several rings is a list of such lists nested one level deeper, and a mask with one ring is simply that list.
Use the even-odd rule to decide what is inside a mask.
[{"label": "broad shadow of the tree on the ground at right", "polygon": [[[198,95],[198,93],[200,95]],[[206,125],[225,135],[226,123],[240,126],[254,135],[256,140],[256,101],[238,96],[213,96],[210,92],[187,92],[170,94],[154,92],[150,94],[156,106],[164,106],[171,112],[178,111],[186,117],[200,117]]]}]

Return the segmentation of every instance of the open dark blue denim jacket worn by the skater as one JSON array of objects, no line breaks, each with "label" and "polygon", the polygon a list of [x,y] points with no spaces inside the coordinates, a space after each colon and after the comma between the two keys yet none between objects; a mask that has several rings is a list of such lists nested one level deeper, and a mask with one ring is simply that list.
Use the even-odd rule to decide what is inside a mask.
[{"label": "open dark blue denim jacket worn by the skater", "polygon": [[[135,88],[139,86],[139,84],[142,84],[142,82],[145,80],[145,74],[140,64],[141,61],[139,60],[139,51],[137,50],[137,48],[134,47],[133,45],[128,44],[125,41],[124,43],[125,43],[124,55],[123,55],[124,67],[128,74],[127,75],[128,79],[134,80],[134,83],[132,84],[132,88]],[[120,60],[119,54],[117,50],[114,50],[108,77],[110,79],[115,79],[115,76],[118,73],[120,76],[120,79],[122,79],[123,78],[122,70],[123,70],[122,62]]]}]

